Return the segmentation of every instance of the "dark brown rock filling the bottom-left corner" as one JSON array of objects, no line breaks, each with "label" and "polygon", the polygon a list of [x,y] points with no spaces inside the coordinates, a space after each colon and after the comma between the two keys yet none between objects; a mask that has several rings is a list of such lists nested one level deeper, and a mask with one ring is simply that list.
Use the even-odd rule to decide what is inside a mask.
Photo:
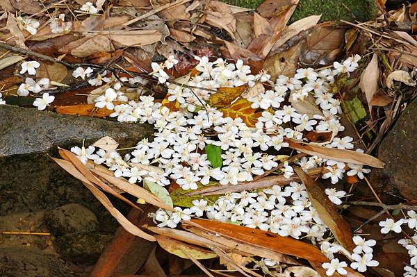
[{"label": "dark brown rock filling the bottom-left corner", "polygon": [[56,255],[27,247],[0,248],[1,277],[75,277]]}]

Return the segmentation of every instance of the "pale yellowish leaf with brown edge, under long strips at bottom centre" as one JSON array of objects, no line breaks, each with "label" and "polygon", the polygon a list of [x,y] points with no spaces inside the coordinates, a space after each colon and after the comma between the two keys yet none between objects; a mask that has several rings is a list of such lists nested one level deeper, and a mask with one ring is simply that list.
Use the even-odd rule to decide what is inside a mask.
[{"label": "pale yellowish leaf with brown edge, under long strips at bottom centre", "polygon": [[[217,257],[215,253],[202,247],[195,246],[192,244],[186,244],[173,240],[170,237],[164,235],[155,235],[158,244],[167,252],[177,255],[183,259],[189,259],[189,255],[197,260],[213,259]],[[186,253],[184,253],[186,252]]]}]

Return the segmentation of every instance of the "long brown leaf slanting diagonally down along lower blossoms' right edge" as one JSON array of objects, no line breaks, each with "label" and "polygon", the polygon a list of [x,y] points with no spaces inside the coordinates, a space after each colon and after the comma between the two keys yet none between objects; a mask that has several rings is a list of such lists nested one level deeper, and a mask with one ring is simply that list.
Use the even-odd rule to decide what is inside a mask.
[{"label": "long brown leaf slanting diagonally down along lower blossoms' right edge", "polygon": [[317,210],[320,219],[332,231],[338,243],[352,252],[355,244],[352,240],[353,233],[350,230],[349,224],[339,214],[334,203],[327,197],[321,185],[308,176],[300,167],[293,168],[305,185],[311,205]]}]

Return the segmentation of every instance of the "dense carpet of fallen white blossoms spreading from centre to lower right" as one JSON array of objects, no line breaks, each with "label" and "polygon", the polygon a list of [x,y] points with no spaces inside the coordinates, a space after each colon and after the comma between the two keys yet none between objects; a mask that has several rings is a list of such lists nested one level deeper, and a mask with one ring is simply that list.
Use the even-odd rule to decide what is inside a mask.
[{"label": "dense carpet of fallen white blossoms spreading from centre to lower right", "polygon": [[[199,74],[169,83],[169,76],[164,70],[172,68],[178,62],[172,56],[163,65],[152,63],[151,75],[158,78],[160,83],[166,83],[166,99],[179,105],[177,111],[154,101],[152,96],[140,95],[140,101],[128,101],[121,91],[122,84],[113,76],[106,77],[104,72],[90,78],[92,69],[80,67],[73,72],[74,77],[88,78],[91,85],[110,83],[104,95],[95,99],[97,107],[113,110],[111,117],[116,117],[118,121],[154,124],[156,133],[153,142],[146,139],[138,142],[136,149],[124,157],[117,151],[96,151],[93,146],[87,149],[73,147],[71,151],[76,153],[82,162],[94,160],[97,164],[104,164],[114,171],[115,176],[126,177],[132,184],[146,179],[165,186],[171,183],[170,180],[174,180],[183,190],[195,190],[201,185],[208,185],[210,181],[218,181],[222,185],[252,181],[254,176],[277,167],[279,151],[288,147],[286,138],[308,141],[304,137],[306,132],[332,132],[332,140],[327,142],[327,147],[354,149],[352,137],[337,137],[338,132],[344,129],[338,117],[341,108],[338,99],[329,92],[329,84],[334,82],[334,77],[338,74],[353,72],[358,66],[359,58],[354,56],[342,63],[335,62],[334,69],[324,69],[320,72],[298,69],[293,78],[279,76],[276,82],[272,82],[265,72],[250,74],[250,67],[243,65],[241,60],[233,64],[220,58],[210,62],[206,57],[196,57],[199,64],[195,69]],[[140,77],[121,79],[132,85],[145,83]],[[219,87],[244,84],[253,87],[259,82],[265,84],[265,87],[272,87],[272,90],[260,94],[244,94],[251,102],[252,108],[261,110],[261,116],[254,126],[248,126],[239,117],[224,117],[220,109],[209,106],[210,96]],[[126,90],[136,90],[138,94],[142,92],[141,89]],[[303,101],[307,97],[315,99],[322,110],[321,114],[310,118],[291,106],[294,101]],[[287,99],[290,104],[286,104]],[[113,101],[116,100],[124,103],[114,105]],[[213,167],[207,154],[203,153],[208,144],[218,146],[222,150],[220,167]],[[156,173],[145,170],[134,166],[135,163],[154,165],[162,171]],[[324,167],[322,178],[330,178],[332,183],[341,180],[343,174],[364,178],[363,174],[370,171],[361,165],[345,164],[317,156],[304,157],[296,163],[304,170]],[[288,163],[281,167],[279,172],[286,178],[294,174]],[[336,191],[334,188],[325,192],[335,204],[341,204],[341,198],[346,196],[346,192]],[[322,224],[316,210],[311,207],[304,185],[300,183],[292,182],[283,187],[275,185],[257,192],[227,194],[214,203],[208,203],[204,199],[195,200],[190,208],[176,207],[174,212],[158,210],[154,215],[154,221],[158,226],[175,228],[181,220],[189,220],[192,216],[231,221],[297,239],[308,238],[313,244],[320,244],[322,252],[331,260],[323,265],[327,269],[327,275],[334,272],[346,274],[344,267],[347,267],[347,263],[333,256],[338,252],[352,260],[352,269],[361,272],[366,271],[367,267],[378,265],[378,262],[373,260],[371,248],[375,245],[374,240],[366,241],[361,237],[354,237],[354,243],[357,245],[354,253],[348,253],[340,245],[325,240],[328,229]],[[409,214],[409,217],[410,219],[397,223],[387,219],[381,226],[397,232],[398,224],[413,222],[412,214]],[[414,225],[415,221],[414,217]],[[387,233],[384,228],[382,233]],[[409,249],[414,253],[412,247]],[[414,266],[416,262],[417,258],[411,265]],[[408,268],[405,270],[410,271]]]}]

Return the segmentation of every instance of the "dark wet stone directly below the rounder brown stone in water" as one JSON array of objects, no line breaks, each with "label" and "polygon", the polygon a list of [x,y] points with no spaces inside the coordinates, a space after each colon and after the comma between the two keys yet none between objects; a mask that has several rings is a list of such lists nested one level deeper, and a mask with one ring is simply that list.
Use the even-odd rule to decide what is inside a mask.
[{"label": "dark wet stone directly below the rounder brown stone in water", "polygon": [[65,260],[94,265],[112,238],[100,233],[68,234],[57,237],[55,247]]}]

